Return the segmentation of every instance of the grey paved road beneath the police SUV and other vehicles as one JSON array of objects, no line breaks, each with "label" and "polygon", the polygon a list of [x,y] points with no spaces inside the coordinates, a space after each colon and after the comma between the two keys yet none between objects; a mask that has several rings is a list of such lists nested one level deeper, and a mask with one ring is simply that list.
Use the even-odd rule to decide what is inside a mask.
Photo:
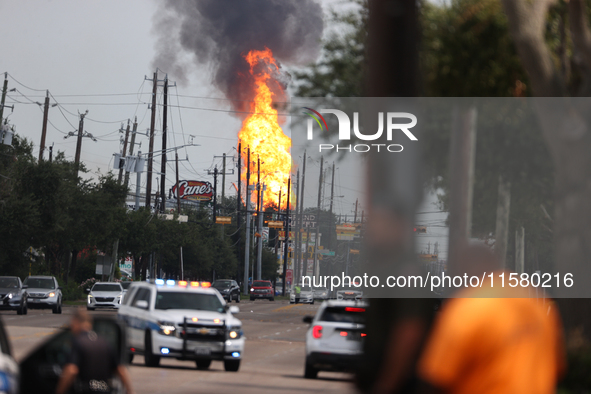
[{"label": "grey paved road beneath the police SUV and other vehicles", "polygon": [[[287,301],[242,301],[238,318],[246,340],[244,359],[238,373],[225,372],[214,361],[209,371],[197,371],[190,361],[162,360],[159,368],[148,368],[136,356],[130,366],[134,387],[140,393],[353,393],[351,377],[321,372],[318,379],[303,378],[304,337],[308,328],[302,317],[313,315],[318,305],[290,305]],[[17,360],[67,324],[74,308],[62,315],[51,311],[0,312]],[[115,317],[115,312],[103,313]]]}]

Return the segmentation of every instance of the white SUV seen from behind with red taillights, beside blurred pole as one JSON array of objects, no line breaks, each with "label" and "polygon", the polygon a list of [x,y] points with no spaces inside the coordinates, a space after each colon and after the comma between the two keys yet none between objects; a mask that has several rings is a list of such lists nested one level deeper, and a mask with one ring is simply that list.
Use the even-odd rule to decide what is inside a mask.
[{"label": "white SUV seen from behind with red taillights, beside blurred pole", "polygon": [[358,301],[325,301],[306,333],[304,377],[314,379],[318,371],[354,371],[363,351],[366,304]]}]

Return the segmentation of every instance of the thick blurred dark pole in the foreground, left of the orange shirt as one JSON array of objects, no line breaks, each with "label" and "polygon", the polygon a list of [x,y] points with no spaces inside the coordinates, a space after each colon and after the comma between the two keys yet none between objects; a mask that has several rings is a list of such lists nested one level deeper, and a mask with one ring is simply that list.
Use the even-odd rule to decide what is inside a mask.
[{"label": "thick blurred dark pole in the foreground, left of the orange shirt", "polygon": [[[369,0],[368,5],[364,95],[418,96],[418,2]],[[393,110],[377,104],[384,106],[380,111]],[[375,106],[367,109],[377,112]],[[375,129],[373,124],[368,126],[368,130]],[[369,157],[365,242],[371,274],[383,278],[419,267],[412,232],[422,192],[419,165],[418,144],[405,144],[404,154],[372,153]],[[432,314],[431,301],[420,295],[370,298],[364,359],[356,379],[359,389],[372,393],[413,392],[415,364]]]}]

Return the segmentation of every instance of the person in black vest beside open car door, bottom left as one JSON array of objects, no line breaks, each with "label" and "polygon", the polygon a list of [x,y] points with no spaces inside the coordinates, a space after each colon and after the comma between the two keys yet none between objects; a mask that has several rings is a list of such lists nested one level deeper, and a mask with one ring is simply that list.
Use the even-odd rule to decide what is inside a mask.
[{"label": "person in black vest beside open car door, bottom left", "polygon": [[70,322],[73,334],[72,353],[57,385],[56,394],[111,393],[111,379],[118,375],[128,394],[133,388],[127,369],[119,363],[112,346],[92,331],[92,317],[78,309]]}]

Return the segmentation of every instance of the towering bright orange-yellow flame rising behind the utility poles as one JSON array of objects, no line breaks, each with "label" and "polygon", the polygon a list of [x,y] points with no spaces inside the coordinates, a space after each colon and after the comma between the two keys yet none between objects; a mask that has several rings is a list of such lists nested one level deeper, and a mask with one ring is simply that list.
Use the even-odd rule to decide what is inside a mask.
[{"label": "towering bright orange-yellow flame rising behind the utility poles", "polygon": [[[254,79],[255,97],[250,104],[251,114],[242,122],[238,139],[242,143],[242,158],[247,162],[246,149],[250,147],[251,184],[257,182],[257,158],[261,160],[261,184],[267,186],[264,192],[263,206],[279,205],[279,193],[282,192],[281,206],[287,205],[287,180],[291,172],[291,139],[279,126],[277,110],[273,108],[274,93],[269,88],[273,82],[273,72],[279,66],[270,49],[252,50],[244,56],[250,65],[250,74]],[[255,70],[256,66],[256,70]],[[246,181],[246,171],[242,173]],[[254,192],[256,201],[256,191]]]}]

